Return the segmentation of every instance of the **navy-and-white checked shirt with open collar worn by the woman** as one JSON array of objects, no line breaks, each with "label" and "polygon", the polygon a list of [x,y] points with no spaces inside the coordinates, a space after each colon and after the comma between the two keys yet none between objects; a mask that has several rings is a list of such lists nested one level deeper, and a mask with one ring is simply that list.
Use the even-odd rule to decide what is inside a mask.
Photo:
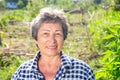
[{"label": "navy-and-white checked shirt with open collar worn by the woman", "polygon": [[[11,80],[45,80],[37,67],[40,52],[35,58],[23,63],[13,74]],[[81,60],[61,53],[61,67],[54,80],[94,80],[91,68]]]}]

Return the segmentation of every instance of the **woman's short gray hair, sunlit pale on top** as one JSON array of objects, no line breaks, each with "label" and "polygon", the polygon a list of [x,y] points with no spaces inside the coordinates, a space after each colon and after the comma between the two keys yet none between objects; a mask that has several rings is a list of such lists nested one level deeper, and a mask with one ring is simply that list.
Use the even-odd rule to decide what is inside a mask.
[{"label": "woman's short gray hair, sunlit pale on top", "polygon": [[53,8],[43,8],[40,10],[38,16],[31,22],[31,35],[33,39],[37,40],[38,30],[42,23],[59,23],[63,30],[64,40],[68,35],[68,22],[63,10]]}]

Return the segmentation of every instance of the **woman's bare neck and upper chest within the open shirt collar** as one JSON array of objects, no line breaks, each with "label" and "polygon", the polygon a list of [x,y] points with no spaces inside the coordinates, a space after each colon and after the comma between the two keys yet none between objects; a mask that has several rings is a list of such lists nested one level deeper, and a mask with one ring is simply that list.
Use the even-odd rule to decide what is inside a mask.
[{"label": "woman's bare neck and upper chest within the open shirt collar", "polygon": [[41,55],[38,61],[38,68],[44,75],[45,80],[53,80],[61,65],[60,56],[47,57]]}]

